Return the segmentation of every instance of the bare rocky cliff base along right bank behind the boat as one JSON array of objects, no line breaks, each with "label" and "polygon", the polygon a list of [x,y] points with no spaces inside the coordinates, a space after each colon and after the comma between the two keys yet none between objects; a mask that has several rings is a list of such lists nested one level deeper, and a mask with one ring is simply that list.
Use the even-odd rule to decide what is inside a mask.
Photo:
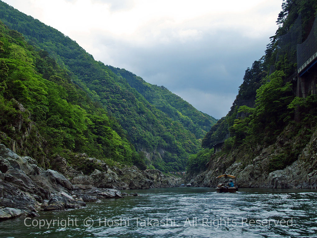
[{"label": "bare rocky cliff base along right bank behind the boat", "polygon": [[296,147],[298,140],[298,137],[286,140],[285,137],[279,136],[275,144],[262,149],[260,155],[246,166],[237,158],[239,151],[222,156],[213,155],[206,171],[186,177],[185,180],[195,187],[216,187],[216,177],[226,173],[237,177],[238,187],[317,188],[317,130],[291,165],[272,172],[268,169],[272,158],[285,152],[289,143],[292,148]]}]

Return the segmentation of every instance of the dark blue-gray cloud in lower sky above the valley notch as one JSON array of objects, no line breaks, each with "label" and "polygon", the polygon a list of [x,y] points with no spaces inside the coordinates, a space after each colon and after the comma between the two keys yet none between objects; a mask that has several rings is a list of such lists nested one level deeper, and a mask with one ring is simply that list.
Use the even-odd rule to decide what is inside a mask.
[{"label": "dark blue-gray cloud in lower sky above the valley notch", "polygon": [[146,82],[164,85],[216,118],[227,114],[245,69],[264,54],[269,41],[268,37],[252,41],[231,30],[151,47],[133,46],[112,37],[97,39],[97,45],[109,46],[114,66],[132,71]]}]

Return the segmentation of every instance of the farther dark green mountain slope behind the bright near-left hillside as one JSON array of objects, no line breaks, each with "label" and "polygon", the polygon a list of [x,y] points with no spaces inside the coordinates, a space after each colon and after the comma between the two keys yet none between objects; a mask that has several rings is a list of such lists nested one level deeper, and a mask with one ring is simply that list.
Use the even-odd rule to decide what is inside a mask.
[{"label": "farther dark green mountain slope behind the bright near-left hillside", "polygon": [[[151,104],[150,98],[147,100],[131,87],[124,76],[116,74],[117,70],[114,73],[103,63],[95,61],[68,36],[3,2],[0,2],[0,19],[10,29],[23,33],[37,50],[47,51],[57,63],[66,67],[72,82],[117,119],[123,134],[137,151],[145,152],[148,165],[153,164],[162,171],[183,170],[189,155],[200,149],[197,138],[201,138],[203,131],[215,121],[210,116],[198,112],[183,100],[177,100],[177,103],[184,104],[182,107],[162,105],[167,101],[162,100],[159,104],[159,96],[155,96]],[[159,94],[158,89],[167,92],[154,89],[155,95]],[[168,108],[177,115],[173,116]]]}]

